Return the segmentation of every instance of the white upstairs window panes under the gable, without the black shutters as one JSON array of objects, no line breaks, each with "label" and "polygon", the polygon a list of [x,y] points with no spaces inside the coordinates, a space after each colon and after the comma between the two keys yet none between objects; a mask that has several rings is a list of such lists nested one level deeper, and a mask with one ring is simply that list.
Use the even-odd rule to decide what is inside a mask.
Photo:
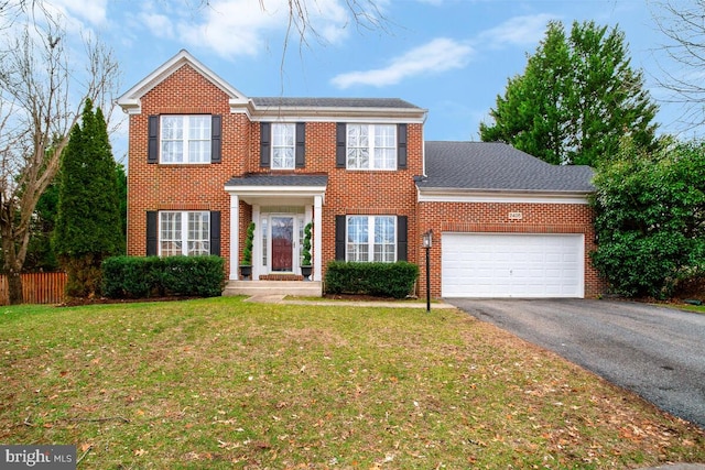
[{"label": "white upstairs window panes under the gable, without the black shutters", "polygon": [[210,114],[162,116],[161,163],[210,163]]}]

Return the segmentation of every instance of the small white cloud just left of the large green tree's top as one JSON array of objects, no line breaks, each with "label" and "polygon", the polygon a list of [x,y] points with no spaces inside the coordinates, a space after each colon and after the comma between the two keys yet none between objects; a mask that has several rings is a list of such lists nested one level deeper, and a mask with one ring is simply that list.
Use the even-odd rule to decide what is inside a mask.
[{"label": "small white cloud just left of the large green tree's top", "polygon": [[543,37],[549,21],[556,19],[550,13],[510,18],[499,26],[481,32],[476,43],[489,48],[536,44]]}]

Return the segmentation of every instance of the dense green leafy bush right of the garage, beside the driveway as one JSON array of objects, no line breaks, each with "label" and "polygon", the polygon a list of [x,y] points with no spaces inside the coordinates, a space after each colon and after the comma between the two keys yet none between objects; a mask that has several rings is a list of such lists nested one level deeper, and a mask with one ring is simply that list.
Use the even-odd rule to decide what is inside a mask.
[{"label": "dense green leafy bush right of the garage, beside the driveway", "polygon": [[664,143],[651,154],[631,141],[600,168],[593,263],[611,289],[669,296],[705,267],[705,144]]}]

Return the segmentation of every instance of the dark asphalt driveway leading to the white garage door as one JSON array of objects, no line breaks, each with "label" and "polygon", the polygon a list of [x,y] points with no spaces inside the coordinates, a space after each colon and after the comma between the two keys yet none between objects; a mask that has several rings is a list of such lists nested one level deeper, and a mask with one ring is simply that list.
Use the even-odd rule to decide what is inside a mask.
[{"label": "dark asphalt driveway leading to the white garage door", "polygon": [[445,300],[705,428],[705,315],[611,300]]}]

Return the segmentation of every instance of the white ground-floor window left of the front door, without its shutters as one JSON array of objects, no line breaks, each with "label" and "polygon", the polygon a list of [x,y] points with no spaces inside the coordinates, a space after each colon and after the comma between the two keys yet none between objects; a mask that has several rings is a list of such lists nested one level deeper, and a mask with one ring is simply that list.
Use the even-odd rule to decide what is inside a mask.
[{"label": "white ground-floor window left of the front door, without its shutters", "polygon": [[162,211],[159,218],[159,254],[210,254],[210,212]]}]

